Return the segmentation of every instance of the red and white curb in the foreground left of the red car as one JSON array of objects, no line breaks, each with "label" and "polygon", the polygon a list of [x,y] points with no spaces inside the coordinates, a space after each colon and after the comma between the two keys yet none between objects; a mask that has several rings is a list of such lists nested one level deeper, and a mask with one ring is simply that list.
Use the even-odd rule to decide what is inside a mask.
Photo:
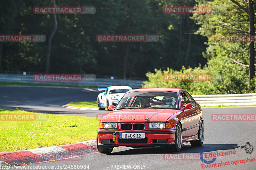
[{"label": "red and white curb in the foreground left of the red car", "polygon": [[96,140],[88,140],[68,145],[22,151],[0,152],[0,167],[27,165],[54,160],[82,160],[84,155],[99,152]]}]

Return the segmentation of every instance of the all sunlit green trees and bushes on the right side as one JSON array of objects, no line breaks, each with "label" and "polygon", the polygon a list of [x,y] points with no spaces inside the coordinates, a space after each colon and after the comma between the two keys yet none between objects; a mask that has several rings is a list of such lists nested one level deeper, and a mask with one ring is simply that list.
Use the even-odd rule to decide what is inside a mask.
[{"label": "all sunlit green trees and bushes on the right side", "polygon": [[[155,73],[148,72],[146,74],[149,81],[145,81],[143,87],[184,88],[188,89],[192,94],[198,95],[253,92],[248,90],[248,67],[245,66],[248,65],[249,43],[211,41],[211,36],[214,34],[246,35],[246,33],[236,29],[249,30],[247,14],[239,10],[238,6],[230,0],[197,1],[199,6],[211,6],[213,9],[211,14],[194,14],[191,17],[200,25],[196,34],[208,38],[206,42],[208,47],[206,52],[203,53],[208,60],[207,64],[203,68],[185,69],[183,67],[180,71],[169,68],[164,71],[156,69]],[[245,1],[239,0],[237,2],[245,8],[248,6]],[[223,25],[225,23],[227,25]],[[235,63],[234,60],[237,62]],[[213,77],[212,81],[163,81],[163,73],[211,73]]]}]

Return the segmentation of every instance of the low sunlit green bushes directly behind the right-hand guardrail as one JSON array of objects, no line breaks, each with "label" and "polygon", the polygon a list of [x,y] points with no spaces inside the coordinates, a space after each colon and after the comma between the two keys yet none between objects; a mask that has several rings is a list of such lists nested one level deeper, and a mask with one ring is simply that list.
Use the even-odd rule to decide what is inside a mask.
[{"label": "low sunlit green bushes directly behind the right-hand guardrail", "polygon": [[[155,69],[155,73],[148,72],[148,81],[144,81],[143,88],[183,88],[193,95],[204,94],[239,94],[248,93],[247,68],[228,60],[226,56],[212,58],[208,66],[203,68],[182,67],[180,71],[167,68]],[[211,81],[164,81],[163,74],[169,73],[211,73]]]}]

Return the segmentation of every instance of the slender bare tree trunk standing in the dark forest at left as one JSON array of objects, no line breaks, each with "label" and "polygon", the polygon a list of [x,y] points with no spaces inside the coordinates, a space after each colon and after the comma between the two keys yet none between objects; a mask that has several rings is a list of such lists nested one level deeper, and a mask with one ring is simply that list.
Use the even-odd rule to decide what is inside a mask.
[{"label": "slender bare tree trunk standing in the dark forest at left", "polygon": [[[55,6],[55,0],[52,0],[52,6]],[[58,23],[57,23],[56,14],[53,14],[53,30],[48,39],[48,48],[46,53],[46,63],[45,63],[45,70],[44,70],[45,73],[49,73],[49,70],[50,70],[52,38],[57,30],[57,24]]]}]

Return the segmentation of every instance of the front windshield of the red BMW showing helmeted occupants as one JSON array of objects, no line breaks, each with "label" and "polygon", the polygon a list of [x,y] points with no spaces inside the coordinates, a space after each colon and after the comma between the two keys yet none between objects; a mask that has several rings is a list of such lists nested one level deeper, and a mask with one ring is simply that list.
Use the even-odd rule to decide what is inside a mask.
[{"label": "front windshield of the red BMW showing helmeted occupants", "polygon": [[159,108],[180,110],[178,94],[169,91],[139,91],[126,93],[115,110],[132,108]]}]

